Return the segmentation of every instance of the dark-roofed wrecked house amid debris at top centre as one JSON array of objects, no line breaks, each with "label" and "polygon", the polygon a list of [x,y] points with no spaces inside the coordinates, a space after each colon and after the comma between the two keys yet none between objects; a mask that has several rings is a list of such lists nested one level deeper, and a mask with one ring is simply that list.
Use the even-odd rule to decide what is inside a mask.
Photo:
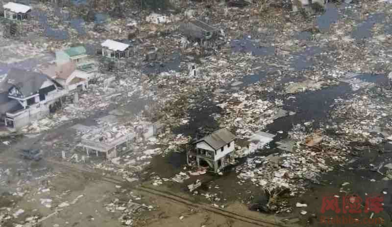
[{"label": "dark-roofed wrecked house amid debris at top centre", "polygon": [[214,46],[219,35],[219,30],[216,27],[196,19],[182,23],[180,31],[189,43],[198,43],[204,47]]}]

